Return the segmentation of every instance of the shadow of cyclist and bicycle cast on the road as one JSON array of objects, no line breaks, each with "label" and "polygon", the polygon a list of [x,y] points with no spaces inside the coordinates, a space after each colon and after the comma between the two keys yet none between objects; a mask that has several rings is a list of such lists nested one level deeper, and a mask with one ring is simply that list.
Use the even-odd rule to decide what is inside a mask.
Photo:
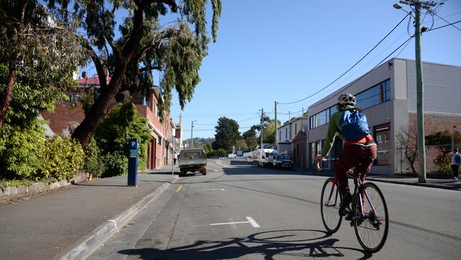
[{"label": "shadow of cyclist and bicycle cast on the road", "polygon": [[[321,233],[320,236],[309,237]],[[289,229],[251,234],[246,238],[235,237],[226,241],[198,240],[193,244],[170,249],[140,248],[118,251],[120,254],[137,256],[139,259],[237,259],[248,255],[263,255],[270,260],[275,257],[288,256],[294,259],[304,257],[345,257],[343,251],[356,251],[363,254],[357,259],[370,259],[372,254],[349,247],[337,247],[338,239],[333,239],[327,232],[311,229]],[[152,240],[154,247],[157,245]],[[167,242],[165,242],[166,244]],[[166,245],[165,245],[166,246]],[[258,257],[259,258],[259,257]]]}]

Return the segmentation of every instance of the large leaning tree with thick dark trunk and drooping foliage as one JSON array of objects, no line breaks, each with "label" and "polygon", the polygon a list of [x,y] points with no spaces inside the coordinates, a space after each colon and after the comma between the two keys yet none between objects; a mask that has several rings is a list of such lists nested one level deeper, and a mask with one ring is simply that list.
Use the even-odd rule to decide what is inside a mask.
[{"label": "large leaning tree with thick dark trunk and drooping foliage", "polygon": [[[116,104],[137,94],[150,94],[154,70],[161,75],[157,83],[161,117],[170,109],[173,90],[183,109],[200,81],[201,60],[207,54],[208,6],[207,0],[48,0],[49,9],[61,21],[82,33],[82,47],[99,77],[99,96],[72,137],[86,146]],[[221,0],[211,0],[211,9],[211,35],[216,41]],[[168,11],[176,20],[160,24],[160,17]],[[120,13],[127,17],[117,31],[116,14]]]}]

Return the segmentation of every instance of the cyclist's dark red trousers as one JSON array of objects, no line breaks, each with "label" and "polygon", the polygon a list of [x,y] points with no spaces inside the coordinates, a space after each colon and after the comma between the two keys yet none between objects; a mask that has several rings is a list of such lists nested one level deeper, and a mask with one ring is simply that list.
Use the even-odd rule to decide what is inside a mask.
[{"label": "cyclist's dark red trousers", "polygon": [[[341,194],[349,192],[348,175],[346,175],[346,171],[352,167],[356,167],[354,170],[355,173],[360,172],[360,179],[365,181],[365,175],[370,171],[376,156],[376,144],[368,146],[350,144],[344,147],[335,166],[335,176],[338,179]],[[360,169],[357,168],[359,161],[361,162]]]}]

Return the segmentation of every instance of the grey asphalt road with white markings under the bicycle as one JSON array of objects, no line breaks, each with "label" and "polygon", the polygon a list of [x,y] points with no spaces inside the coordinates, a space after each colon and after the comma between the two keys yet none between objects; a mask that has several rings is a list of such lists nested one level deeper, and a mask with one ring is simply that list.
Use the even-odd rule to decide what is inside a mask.
[{"label": "grey asphalt road with white markings under the bicycle", "polygon": [[389,235],[369,254],[348,222],[326,233],[325,177],[228,159],[208,173],[179,178],[91,259],[460,259],[459,191],[377,183]]}]

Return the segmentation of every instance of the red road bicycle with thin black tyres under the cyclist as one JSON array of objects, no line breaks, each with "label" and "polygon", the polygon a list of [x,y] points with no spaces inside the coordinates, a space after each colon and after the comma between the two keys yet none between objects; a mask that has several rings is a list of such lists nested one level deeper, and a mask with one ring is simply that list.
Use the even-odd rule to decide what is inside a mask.
[{"label": "red road bicycle with thin black tyres under the cyclist", "polygon": [[[329,160],[336,161],[337,159]],[[360,165],[359,162],[356,169],[360,169]],[[319,163],[316,166],[318,170],[321,170]],[[350,220],[360,246],[371,253],[377,252],[384,246],[389,231],[386,200],[377,185],[360,180],[360,173],[353,173],[349,170],[347,174],[348,177],[353,178],[355,188],[351,203],[353,210],[348,206],[348,215],[345,216],[345,220]],[[323,225],[330,234],[338,231],[343,220],[343,217],[339,215],[341,199],[338,180],[333,177],[328,178],[323,184],[321,193],[321,215]]]}]

